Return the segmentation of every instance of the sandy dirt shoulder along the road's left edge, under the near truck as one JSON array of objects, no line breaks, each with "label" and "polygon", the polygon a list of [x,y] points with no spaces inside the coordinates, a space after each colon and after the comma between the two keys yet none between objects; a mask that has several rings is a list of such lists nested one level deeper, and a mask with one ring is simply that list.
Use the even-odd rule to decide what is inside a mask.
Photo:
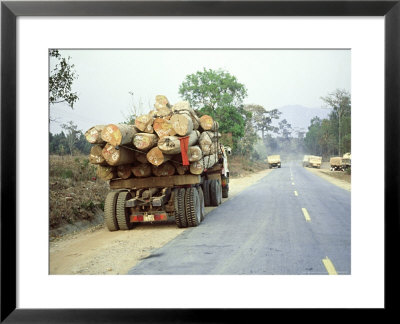
[{"label": "sandy dirt shoulder along the road's left edge, under the near truck", "polygon": [[[229,198],[256,183],[272,170],[230,179]],[[206,214],[217,207],[206,207]],[[130,231],[109,232],[103,224],[65,235],[49,244],[49,274],[126,274],[141,259],[183,231],[175,224],[140,224]]]}]

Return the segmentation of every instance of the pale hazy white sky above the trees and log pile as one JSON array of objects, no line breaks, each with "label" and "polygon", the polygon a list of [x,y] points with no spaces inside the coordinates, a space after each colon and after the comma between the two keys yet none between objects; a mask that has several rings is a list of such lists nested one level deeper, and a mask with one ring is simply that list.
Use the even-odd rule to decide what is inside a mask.
[{"label": "pale hazy white sky above the trees and log pile", "polygon": [[[50,107],[56,122],[50,131],[72,120],[84,132],[93,125],[125,120],[132,102],[145,113],[158,94],[173,104],[182,100],[179,86],[185,76],[223,69],[248,90],[244,103],[267,110],[288,105],[323,106],[321,96],[337,88],[351,91],[350,50],[63,50],[75,65],[74,109]],[[129,92],[134,93],[132,98]],[[132,101],[133,99],[133,101]]]}]

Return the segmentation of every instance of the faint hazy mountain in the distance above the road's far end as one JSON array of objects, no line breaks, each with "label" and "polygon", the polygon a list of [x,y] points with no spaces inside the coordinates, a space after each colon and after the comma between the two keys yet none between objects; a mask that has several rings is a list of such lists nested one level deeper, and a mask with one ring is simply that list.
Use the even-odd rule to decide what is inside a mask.
[{"label": "faint hazy mountain in the distance above the road's far end", "polygon": [[319,118],[327,118],[330,109],[323,108],[309,108],[300,105],[296,106],[284,106],[278,108],[278,110],[282,113],[279,120],[274,120],[273,125],[278,126],[279,121],[286,119],[289,124],[292,125],[292,128],[303,128],[306,132],[308,130],[308,126],[310,126],[310,121],[315,116]]}]

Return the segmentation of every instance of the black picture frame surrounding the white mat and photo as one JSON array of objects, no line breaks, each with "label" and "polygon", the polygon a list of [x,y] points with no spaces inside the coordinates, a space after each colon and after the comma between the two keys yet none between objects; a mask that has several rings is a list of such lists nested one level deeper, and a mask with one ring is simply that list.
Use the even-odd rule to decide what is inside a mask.
[{"label": "black picture frame surrounding the white mat and photo", "polygon": [[[16,19],[19,16],[383,16],[385,19],[385,307],[399,286],[392,260],[400,229],[400,0],[395,1],[2,1],[1,322],[233,322],[260,309],[18,309],[16,307]],[[7,149],[7,155],[3,154]],[[372,261],[373,262],[373,261]],[[266,292],[267,293],[267,292]],[[247,314],[251,312],[251,314]],[[261,314],[258,314],[261,313]]]}]

